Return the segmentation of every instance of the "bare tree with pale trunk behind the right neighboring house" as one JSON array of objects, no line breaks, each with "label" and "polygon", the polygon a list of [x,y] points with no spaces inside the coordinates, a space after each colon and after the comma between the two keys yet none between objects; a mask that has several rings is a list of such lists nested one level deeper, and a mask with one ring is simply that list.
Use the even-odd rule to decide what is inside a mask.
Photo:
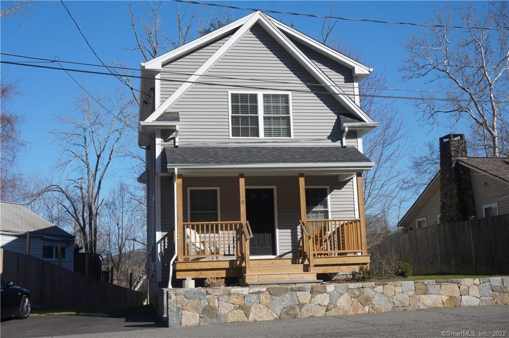
[{"label": "bare tree with pale trunk behind the right neighboring house", "polygon": [[472,6],[456,13],[467,29],[448,27],[455,18],[447,7],[437,11],[433,20],[444,26],[411,36],[404,44],[410,53],[402,69],[404,78],[422,78],[443,90],[447,101],[416,102],[430,121],[447,117],[447,123],[468,122],[485,156],[507,156],[509,5],[490,3],[484,15]]}]

